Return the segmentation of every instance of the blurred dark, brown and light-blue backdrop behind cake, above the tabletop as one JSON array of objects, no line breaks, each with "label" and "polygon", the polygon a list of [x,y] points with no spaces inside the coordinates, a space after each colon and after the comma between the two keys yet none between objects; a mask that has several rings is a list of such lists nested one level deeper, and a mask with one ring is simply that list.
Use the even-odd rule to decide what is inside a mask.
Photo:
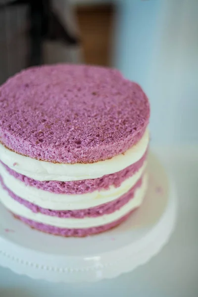
[{"label": "blurred dark, brown and light-blue backdrop behind cake, above the tabletop", "polygon": [[198,0],[0,0],[0,83],[22,68],[112,66],[151,102],[152,143],[198,142]]}]

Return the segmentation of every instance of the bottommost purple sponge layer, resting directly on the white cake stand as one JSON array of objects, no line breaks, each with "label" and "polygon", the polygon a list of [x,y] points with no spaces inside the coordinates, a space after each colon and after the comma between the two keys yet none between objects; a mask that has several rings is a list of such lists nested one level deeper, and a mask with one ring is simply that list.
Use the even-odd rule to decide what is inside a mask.
[{"label": "bottommost purple sponge layer, resting directly on the white cake stand", "polygon": [[135,209],[133,209],[130,213],[126,214],[122,218],[120,218],[112,223],[109,223],[109,224],[106,224],[103,226],[99,226],[99,227],[92,227],[92,228],[86,228],[86,229],[58,228],[58,227],[49,226],[49,225],[46,225],[43,223],[38,223],[38,222],[35,222],[32,220],[28,220],[24,217],[20,217],[15,214],[13,214],[13,215],[16,218],[23,221],[24,223],[28,224],[30,227],[37,229],[39,231],[45,232],[45,233],[64,236],[64,237],[85,237],[85,236],[89,236],[89,235],[99,234],[101,232],[105,232],[109,229],[112,229],[112,228],[118,226],[119,224],[124,222],[130,216],[130,214],[134,211],[135,211]]}]

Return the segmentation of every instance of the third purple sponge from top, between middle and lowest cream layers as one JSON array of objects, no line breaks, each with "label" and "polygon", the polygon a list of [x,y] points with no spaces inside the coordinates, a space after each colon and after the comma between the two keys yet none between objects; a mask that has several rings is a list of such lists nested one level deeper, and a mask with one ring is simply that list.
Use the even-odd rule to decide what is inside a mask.
[{"label": "third purple sponge from top, between middle and lowest cream layers", "polygon": [[124,204],[126,204],[130,199],[134,197],[136,189],[141,187],[142,178],[127,193],[117,198],[116,200],[113,200],[92,208],[78,209],[78,210],[61,210],[61,211],[42,208],[40,206],[37,206],[29,201],[26,201],[16,196],[12,191],[10,191],[3,184],[1,176],[0,176],[0,183],[3,189],[5,189],[8,192],[11,198],[18,201],[20,204],[23,204],[24,206],[31,209],[35,213],[41,212],[45,215],[56,216],[59,218],[84,218],[84,217],[98,217],[104,214],[112,213],[120,209],[120,207],[122,207]]}]

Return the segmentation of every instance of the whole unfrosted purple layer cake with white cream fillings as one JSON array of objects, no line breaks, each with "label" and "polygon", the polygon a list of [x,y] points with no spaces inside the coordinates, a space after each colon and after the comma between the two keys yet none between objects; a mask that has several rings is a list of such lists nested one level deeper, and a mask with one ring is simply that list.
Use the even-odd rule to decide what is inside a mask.
[{"label": "whole unfrosted purple layer cake with white cream fillings", "polygon": [[83,237],[147,191],[149,102],[115,69],[33,67],[0,87],[0,200],[38,230]]}]

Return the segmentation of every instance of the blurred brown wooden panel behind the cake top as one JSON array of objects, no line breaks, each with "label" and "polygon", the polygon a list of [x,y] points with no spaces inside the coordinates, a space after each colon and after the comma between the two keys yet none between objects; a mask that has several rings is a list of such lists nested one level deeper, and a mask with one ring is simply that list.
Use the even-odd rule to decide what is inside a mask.
[{"label": "blurred brown wooden panel behind the cake top", "polygon": [[85,62],[109,65],[113,6],[89,5],[76,8]]}]

